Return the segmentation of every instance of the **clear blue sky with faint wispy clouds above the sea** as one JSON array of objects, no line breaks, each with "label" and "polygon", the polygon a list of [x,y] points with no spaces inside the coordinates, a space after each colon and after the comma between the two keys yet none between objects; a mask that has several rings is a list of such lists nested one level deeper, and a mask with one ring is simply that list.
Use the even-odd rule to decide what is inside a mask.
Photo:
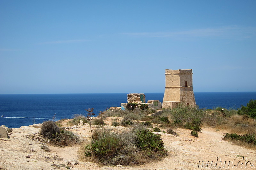
[{"label": "clear blue sky with faint wispy clouds above the sea", "polygon": [[0,94],[256,91],[256,1],[0,1]]}]

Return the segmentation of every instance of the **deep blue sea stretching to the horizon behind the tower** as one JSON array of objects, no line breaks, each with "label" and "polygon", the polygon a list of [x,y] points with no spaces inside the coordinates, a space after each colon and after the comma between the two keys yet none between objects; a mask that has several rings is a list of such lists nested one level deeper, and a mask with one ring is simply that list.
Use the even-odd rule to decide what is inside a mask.
[{"label": "deep blue sea stretching to the horizon behind the tower", "polygon": [[[164,93],[144,93],[148,100],[163,101]],[[256,92],[195,92],[199,108],[224,107],[237,109],[251,99]],[[88,93],[88,94],[0,94],[0,125],[18,128],[42,123],[46,120],[72,118],[94,108],[95,115],[111,106],[120,107],[127,102],[127,93]]]}]

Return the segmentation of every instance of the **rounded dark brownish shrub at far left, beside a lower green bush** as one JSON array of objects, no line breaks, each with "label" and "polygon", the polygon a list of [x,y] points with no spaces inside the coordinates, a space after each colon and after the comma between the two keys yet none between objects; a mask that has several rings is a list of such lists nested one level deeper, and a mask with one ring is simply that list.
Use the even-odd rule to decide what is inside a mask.
[{"label": "rounded dark brownish shrub at far left, beside a lower green bush", "polygon": [[40,135],[53,140],[60,134],[60,128],[53,121],[43,122]]}]

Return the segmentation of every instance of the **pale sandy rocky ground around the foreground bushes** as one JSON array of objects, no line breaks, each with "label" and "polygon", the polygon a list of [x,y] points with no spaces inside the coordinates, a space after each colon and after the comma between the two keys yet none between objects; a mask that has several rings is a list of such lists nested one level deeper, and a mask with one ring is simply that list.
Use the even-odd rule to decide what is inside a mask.
[{"label": "pale sandy rocky ground around the foreground bushes", "polygon": [[[111,124],[111,117],[105,122]],[[115,117],[115,119],[121,119]],[[67,121],[63,122],[67,126]],[[107,170],[107,169],[131,169],[131,170],[144,170],[144,169],[198,169],[199,161],[217,161],[217,167],[221,163],[224,165],[225,161],[233,161],[233,165],[239,164],[239,167],[247,167],[254,163],[256,169],[256,151],[246,149],[241,146],[234,145],[230,142],[222,140],[223,135],[226,133],[224,130],[213,128],[203,128],[202,133],[199,133],[198,138],[190,135],[188,129],[177,129],[179,136],[170,135],[162,132],[160,133],[163,138],[168,156],[161,161],[149,162],[140,166],[98,166],[93,162],[82,162],[78,156],[79,146],[72,147],[55,147],[49,144],[39,142],[40,139],[40,124],[33,127],[22,126],[21,128],[13,129],[9,134],[10,138],[0,139],[0,169],[93,169],[93,170]],[[106,128],[114,128],[116,130],[124,130],[125,127],[112,127],[105,126]],[[93,128],[100,128],[99,125]],[[68,127],[67,130],[79,135],[85,140],[90,140],[91,131],[90,125]],[[161,129],[166,130],[166,129]],[[45,148],[50,148],[50,152],[46,152]],[[244,156],[244,161],[243,157]],[[220,160],[221,159],[221,160]],[[246,159],[246,162],[245,162]],[[220,162],[222,161],[222,162]],[[240,161],[240,162],[239,162]],[[243,164],[241,164],[243,163]],[[201,167],[202,164],[199,165]],[[214,165],[212,166],[214,167]],[[228,165],[226,164],[226,167]],[[231,165],[229,165],[229,168]],[[209,168],[209,167],[208,167]],[[235,166],[236,168],[236,166]]]}]

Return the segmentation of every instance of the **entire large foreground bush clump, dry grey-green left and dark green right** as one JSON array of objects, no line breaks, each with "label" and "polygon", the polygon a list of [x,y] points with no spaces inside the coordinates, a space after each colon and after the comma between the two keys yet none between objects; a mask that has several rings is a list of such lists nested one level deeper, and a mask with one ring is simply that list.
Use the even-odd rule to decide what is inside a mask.
[{"label": "entire large foreground bush clump, dry grey-green left and dark green right", "polygon": [[94,131],[92,141],[80,148],[80,157],[84,161],[108,166],[140,165],[160,159],[166,153],[160,135],[143,128],[122,133],[98,129]]}]

